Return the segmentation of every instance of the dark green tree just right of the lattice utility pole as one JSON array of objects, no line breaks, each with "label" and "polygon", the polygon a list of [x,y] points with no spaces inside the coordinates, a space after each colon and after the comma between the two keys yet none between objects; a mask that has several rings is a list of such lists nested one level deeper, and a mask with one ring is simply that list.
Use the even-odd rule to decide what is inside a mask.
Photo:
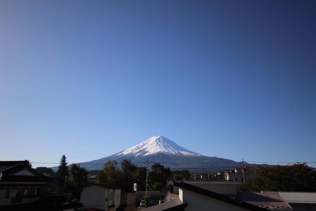
[{"label": "dark green tree just right of the lattice utility pole", "polygon": [[164,191],[167,186],[167,179],[171,175],[170,168],[165,168],[159,163],[155,163],[151,167],[149,174],[150,191]]}]

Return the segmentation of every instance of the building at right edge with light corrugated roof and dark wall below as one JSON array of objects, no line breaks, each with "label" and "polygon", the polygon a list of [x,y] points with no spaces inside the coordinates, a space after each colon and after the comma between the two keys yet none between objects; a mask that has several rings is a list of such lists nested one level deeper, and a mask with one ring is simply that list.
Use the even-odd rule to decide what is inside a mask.
[{"label": "building at right edge with light corrugated roof and dark wall below", "polygon": [[316,210],[316,193],[314,192],[271,192],[263,191],[262,193],[278,193],[294,211]]}]

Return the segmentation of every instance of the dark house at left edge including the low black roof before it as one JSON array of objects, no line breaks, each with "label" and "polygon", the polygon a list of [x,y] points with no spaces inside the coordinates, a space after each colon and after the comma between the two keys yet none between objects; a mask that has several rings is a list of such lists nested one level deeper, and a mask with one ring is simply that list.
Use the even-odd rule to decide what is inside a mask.
[{"label": "dark house at left edge including the low black roof before it", "polygon": [[[44,195],[53,179],[37,173],[25,161],[0,161],[0,210],[75,210],[81,203],[64,195]],[[56,189],[55,189],[56,190]]]}]

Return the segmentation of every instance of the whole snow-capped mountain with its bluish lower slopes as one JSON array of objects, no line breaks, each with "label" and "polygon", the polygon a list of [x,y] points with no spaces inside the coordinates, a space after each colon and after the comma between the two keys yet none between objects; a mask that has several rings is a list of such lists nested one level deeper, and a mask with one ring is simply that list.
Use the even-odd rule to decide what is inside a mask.
[{"label": "whole snow-capped mountain with its bluish lower slopes", "polygon": [[[136,146],[114,155],[80,163],[80,166],[88,170],[100,170],[108,160],[116,160],[119,163],[122,159],[132,159],[132,162],[137,163],[137,166],[146,166],[144,162],[147,162],[148,159],[151,162],[161,163],[166,167],[170,167],[171,170],[189,169],[190,172],[202,172],[202,169],[198,168],[203,167],[204,172],[215,172],[242,166],[242,162],[218,157],[207,157],[192,152],[163,136],[151,137]],[[245,165],[248,167],[257,166],[257,164],[250,163],[245,163]],[[267,164],[260,164],[260,166],[267,166]],[[58,167],[52,167],[52,169],[56,171]]]}]

